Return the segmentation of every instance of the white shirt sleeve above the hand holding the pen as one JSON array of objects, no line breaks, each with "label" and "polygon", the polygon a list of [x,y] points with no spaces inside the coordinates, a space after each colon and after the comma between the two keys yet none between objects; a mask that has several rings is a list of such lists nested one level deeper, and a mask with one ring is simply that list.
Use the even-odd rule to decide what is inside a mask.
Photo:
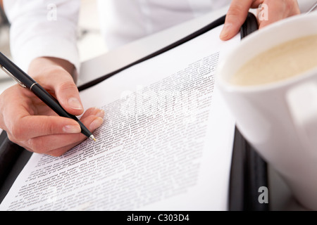
[{"label": "white shirt sleeve above the hand holding the pen", "polygon": [[11,54],[22,70],[42,56],[68,60],[79,70],[79,0],[4,0],[4,9],[11,23]]}]

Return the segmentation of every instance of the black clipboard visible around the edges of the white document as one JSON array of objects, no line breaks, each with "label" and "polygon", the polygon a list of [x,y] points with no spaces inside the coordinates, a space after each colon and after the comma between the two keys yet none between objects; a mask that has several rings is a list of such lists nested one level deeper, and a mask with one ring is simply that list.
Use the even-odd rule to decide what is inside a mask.
[{"label": "black clipboard visible around the edges of the white document", "polygon": [[[107,75],[99,77],[87,82],[78,89],[84,90],[94,84],[98,84],[103,80],[116,75],[118,72],[126,70],[137,63],[141,63],[144,60],[158,56],[170,49],[179,46],[180,44],[198,37],[209,30],[223,25],[225,22],[225,15],[217,20],[214,20],[209,25],[202,27],[201,29],[189,34],[187,37],[175,41],[175,43],[170,44],[159,51],[149,54],[144,58],[136,60],[134,63],[125,65],[116,71],[113,71]],[[249,13],[247,20],[244,25],[242,25],[240,34],[241,38],[246,37],[251,32],[258,30],[258,23],[254,14]],[[10,190],[13,182],[20,174],[21,170],[30,159],[32,153],[25,150],[24,148],[12,143],[6,132],[3,131],[0,136],[0,203],[4,200],[4,197]],[[258,201],[258,186],[268,186],[267,172],[266,172],[266,162],[264,162],[261,157],[254,151],[251,146],[245,141],[243,136],[240,134],[238,129],[235,130],[235,141],[232,153],[232,166],[230,172],[230,190],[229,190],[229,208],[232,211],[242,211],[242,210],[268,210],[268,204],[263,205]]]}]

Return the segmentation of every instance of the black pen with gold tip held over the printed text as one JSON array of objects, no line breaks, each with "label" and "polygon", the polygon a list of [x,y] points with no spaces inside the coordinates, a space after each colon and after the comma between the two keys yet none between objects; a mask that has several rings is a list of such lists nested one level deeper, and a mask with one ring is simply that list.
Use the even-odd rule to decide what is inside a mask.
[{"label": "black pen with gold tip held over the printed text", "polygon": [[94,135],[92,135],[89,129],[87,129],[85,125],[82,124],[82,122],[80,122],[80,120],[78,120],[77,117],[75,117],[75,115],[67,113],[66,110],[64,110],[61,107],[60,103],[58,103],[56,98],[51,96],[51,94],[49,94],[49,92],[47,92],[42,86],[37,84],[37,82],[34,79],[32,79],[32,77],[30,77],[25,72],[23,72],[23,70],[18,68],[17,65],[15,65],[13,62],[11,62],[11,60],[6,58],[6,56],[4,56],[4,54],[2,54],[1,52],[0,68],[4,70],[4,72],[6,72],[7,75],[12,77],[15,80],[15,82],[18,82],[18,84],[20,84],[24,88],[30,89],[30,91],[32,91],[37,97],[39,97],[39,99],[41,99],[46,105],[48,105],[49,108],[54,110],[55,113],[57,113],[61,117],[67,117],[76,120],[80,124],[82,134],[85,134],[85,136],[89,137],[89,139],[96,141]]}]

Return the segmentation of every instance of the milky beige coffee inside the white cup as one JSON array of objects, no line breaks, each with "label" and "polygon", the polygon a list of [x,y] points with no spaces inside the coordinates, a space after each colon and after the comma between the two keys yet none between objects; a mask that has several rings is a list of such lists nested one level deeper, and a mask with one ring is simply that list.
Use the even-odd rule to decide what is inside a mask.
[{"label": "milky beige coffee inside the white cup", "polygon": [[259,53],[230,78],[249,86],[279,82],[317,67],[317,34],[300,37]]}]

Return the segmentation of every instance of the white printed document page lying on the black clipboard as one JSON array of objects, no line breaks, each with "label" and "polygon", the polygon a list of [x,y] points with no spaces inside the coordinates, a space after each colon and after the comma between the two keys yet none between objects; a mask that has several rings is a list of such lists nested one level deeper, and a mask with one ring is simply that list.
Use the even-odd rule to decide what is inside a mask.
[{"label": "white printed document page lying on the black clipboard", "polygon": [[214,79],[240,35],[221,28],[82,91],[106,111],[97,142],[34,153],[0,210],[228,210],[235,120]]}]

